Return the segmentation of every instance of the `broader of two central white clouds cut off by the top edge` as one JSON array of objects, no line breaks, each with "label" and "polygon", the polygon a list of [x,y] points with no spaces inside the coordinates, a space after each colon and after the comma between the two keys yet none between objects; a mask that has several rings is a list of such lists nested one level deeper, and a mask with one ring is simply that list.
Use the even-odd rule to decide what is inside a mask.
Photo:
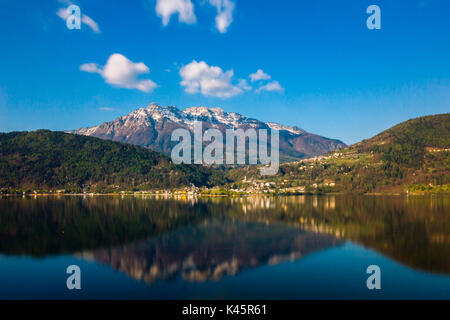
[{"label": "broader of two central white clouds cut off by the top edge", "polygon": [[155,10],[164,26],[169,24],[173,14],[178,14],[179,22],[191,24],[197,21],[191,0],[157,0]]}]

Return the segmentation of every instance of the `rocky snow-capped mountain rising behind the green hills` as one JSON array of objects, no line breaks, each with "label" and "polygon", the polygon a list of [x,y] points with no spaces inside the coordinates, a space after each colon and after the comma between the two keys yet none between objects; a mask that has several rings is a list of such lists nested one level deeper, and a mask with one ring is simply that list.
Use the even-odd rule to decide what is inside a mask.
[{"label": "rocky snow-capped mountain rising behind the green hills", "polygon": [[239,113],[225,112],[220,108],[191,107],[179,110],[172,106],[161,107],[156,103],[137,109],[114,121],[71,132],[131,143],[169,154],[176,145],[176,142],[170,139],[173,130],[185,128],[192,131],[195,121],[202,121],[204,129],[217,128],[223,133],[226,129],[278,130],[280,157],[284,160],[317,156],[346,146],[342,141],[311,134],[298,127],[262,122]]}]

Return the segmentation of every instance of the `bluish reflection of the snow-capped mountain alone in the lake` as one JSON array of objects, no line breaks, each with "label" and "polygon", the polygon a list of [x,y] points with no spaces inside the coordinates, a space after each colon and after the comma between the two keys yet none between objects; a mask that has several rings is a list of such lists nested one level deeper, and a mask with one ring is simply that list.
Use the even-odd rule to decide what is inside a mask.
[{"label": "bluish reflection of the snow-capped mountain alone in the lake", "polygon": [[95,259],[149,284],[178,275],[203,282],[262,264],[294,261],[340,243],[328,235],[280,224],[213,221],[136,244],[85,252],[81,257]]}]

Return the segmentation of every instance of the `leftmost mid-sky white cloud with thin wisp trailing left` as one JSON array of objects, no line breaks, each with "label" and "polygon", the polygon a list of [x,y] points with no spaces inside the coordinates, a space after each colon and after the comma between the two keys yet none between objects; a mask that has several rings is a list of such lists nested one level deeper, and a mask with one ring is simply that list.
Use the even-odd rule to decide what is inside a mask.
[{"label": "leftmost mid-sky white cloud with thin wisp trailing left", "polygon": [[105,79],[106,83],[120,88],[151,92],[158,87],[150,79],[138,79],[141,74],[150,73],[149,68],[144,63],[134,63],[119,53],[112,54],[103,68],[95,63],[85,63],[80,66],[80,70],[98,73]]}]

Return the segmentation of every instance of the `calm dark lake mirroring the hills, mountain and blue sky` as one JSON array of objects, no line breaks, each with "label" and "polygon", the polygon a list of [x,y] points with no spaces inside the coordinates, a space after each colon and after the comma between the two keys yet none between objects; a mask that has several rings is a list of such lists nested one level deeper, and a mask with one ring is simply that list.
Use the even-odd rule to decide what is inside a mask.
[{"label": "calm dark lake mirroring the hills, mountain and blue sky", "polygon": [[450,197],[5,197],[0,299],[450,299]]}]

